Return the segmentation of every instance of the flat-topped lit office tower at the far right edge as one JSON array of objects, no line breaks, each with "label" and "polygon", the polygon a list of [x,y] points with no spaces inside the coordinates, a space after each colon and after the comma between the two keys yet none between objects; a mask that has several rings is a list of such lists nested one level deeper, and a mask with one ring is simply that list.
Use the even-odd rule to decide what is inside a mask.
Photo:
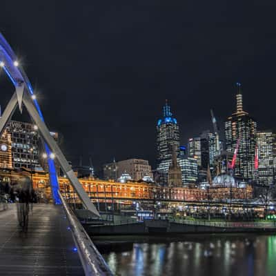
[{"label": "flat-topped lit office tower at the far right edge", "polygon": [[275,134],[271,131],[257,132],[257,181],[259,184],[272,185],[274,183],[274,152]]}]

